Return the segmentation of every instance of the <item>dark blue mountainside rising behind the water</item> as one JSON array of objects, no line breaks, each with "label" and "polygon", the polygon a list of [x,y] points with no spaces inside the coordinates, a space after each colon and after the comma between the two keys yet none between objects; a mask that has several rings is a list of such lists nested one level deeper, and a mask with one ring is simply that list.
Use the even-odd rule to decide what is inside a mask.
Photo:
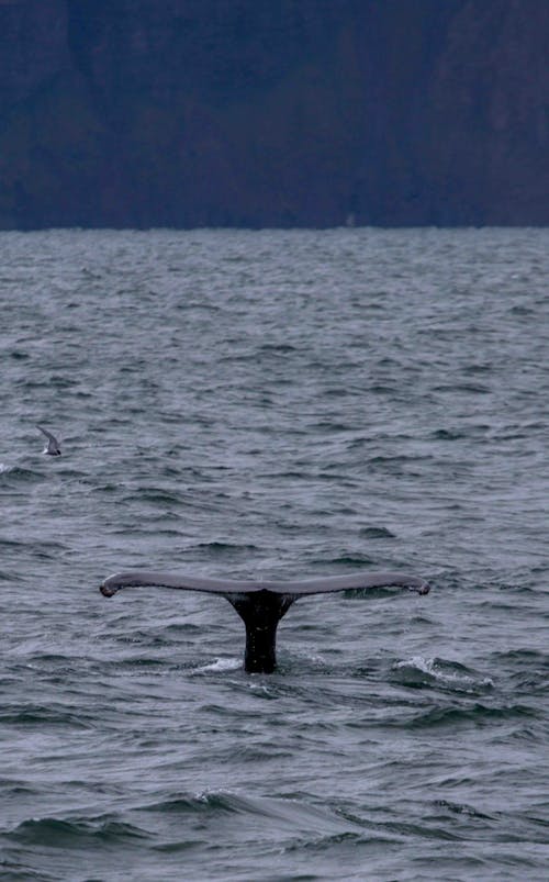
[{"label": "dark blue mountainside rising behind the water", "polygon": [[549,223],[547,0],[0,0],[0,228]]}]

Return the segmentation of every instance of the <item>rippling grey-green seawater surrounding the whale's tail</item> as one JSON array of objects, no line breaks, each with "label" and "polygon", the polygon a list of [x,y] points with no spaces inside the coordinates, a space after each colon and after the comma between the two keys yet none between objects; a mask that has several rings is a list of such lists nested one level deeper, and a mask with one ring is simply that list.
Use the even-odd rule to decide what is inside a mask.
[{"label": "rippling grey-green seawater surrounding the whale's tail", "polygon": [[[2,882],[547,880],[549,231],[0,257]],[[99,593],[145,566],[433,591],[249,676],[223,598]]]}]

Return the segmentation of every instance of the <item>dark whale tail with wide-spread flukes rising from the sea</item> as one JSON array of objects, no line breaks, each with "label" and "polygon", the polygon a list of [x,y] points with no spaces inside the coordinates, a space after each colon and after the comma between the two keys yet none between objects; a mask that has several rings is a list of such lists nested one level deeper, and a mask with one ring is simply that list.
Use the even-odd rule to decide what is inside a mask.
[{"label": "dark whale tail with wide-spread flukes rising from the sea", "polygon": [[99,590],[105,598],[112,598],[123,588],[172,588],[225,598],[246,627],[244,669],[249,673],[271,673],[277,667],[278,623],[299,598],[370,588],[405,588],[417,594],[429,592],[424,579],[402,572],[355,572],[303,581],[258,581],[205,579],[157,570],[114,573],[101,583]]}]

